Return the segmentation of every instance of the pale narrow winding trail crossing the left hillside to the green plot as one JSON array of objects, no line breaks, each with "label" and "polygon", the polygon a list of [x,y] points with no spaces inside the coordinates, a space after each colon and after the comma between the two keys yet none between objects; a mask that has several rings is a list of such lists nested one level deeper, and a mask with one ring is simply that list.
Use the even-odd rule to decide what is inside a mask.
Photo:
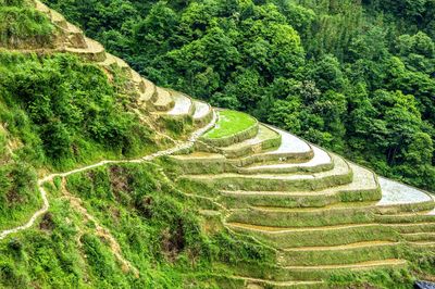
[{"label": "pale narrow winding trail crossing the left hillside to the green plot", "polygon": [[104,161],[101,161],[101,162],[96,163],[96,164],[91,164],[91,165],[88,165],[88,166],[79,167],[79,168],[76,168],[76,169],[73,169],[73,171],[70,171],[70,172],[65,172],[65,173],[54,173],[54,174],[51,174],[51,175],[48,175],[48,176],[46,176],[44,178],[38,179],[38,189],[39,189],[39,192],[40,192],[40,196],[41,196],[41,199],[42,199],[42,208],[39,209],[37,212],[35,212],[35,214],[30,217],[30,219],[26,224],[24,224],[22,226],[17,226],[17,227],[12,228],[12,229],[2,230],[0,233],[0,240],[4,239],[5,237],[8,237],[11,234],[15,234],[15,233],[18,233],[21,230],[25,230],[25,229],[30,228],[35,224],[36,219],[48,211],[48,209],[50,208],[50,202],[49,202],[49,200],[47,198],[47,191],[44,188],[44,184],[45,183],[51,181],[54,177],[67,177],[70,175],[73,175],[73,174],[76,174],[76,173],[80,173],[80,172],[84,172],[84,171],[88,171],[88,169],[91,169],[91,168],[95,168],[95,167],[99,167],[99,166],[102,166],[102,165],[107,165],[107,164],[149,162],[149,161],[152,161],[152,160],[154,160],[154,159],[157,159],[159,156],[170,155],[170,154],[173,154],[173,153],[182,151],[182,150],[190,149],[194,146],[195,141],[201,135],[203,135],[207,130],[209,130],[210,128],[212,128],[215,125],[216,118],[217,118],[216,117],[216,113],[213,110],[213,118],[211,120],[211,122],[208,125],[206,125],[204,127],[199,128],[198,130],[194,131],[190,135],[190,137],[188,138],[187,141],[177,142],[177,144],[175,147],[171,148],[171,149],[158,151],[158,152],[154,152],[152,154],[148,154],[148,155],[145,155],[142,158],[135,159],[135,160],[121,160],[121,161],[104,160]]}]

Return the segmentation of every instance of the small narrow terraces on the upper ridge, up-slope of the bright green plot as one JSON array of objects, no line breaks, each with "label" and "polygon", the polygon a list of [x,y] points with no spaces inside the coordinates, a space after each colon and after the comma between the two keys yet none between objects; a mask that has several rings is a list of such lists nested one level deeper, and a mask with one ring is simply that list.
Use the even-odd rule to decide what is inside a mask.
[{"label": "small narrow terraces on the upper ridge, up-slope of the bright green plot", "polygon": [[60,13],[51,10],[38,0],[33,0],[35,8],[46,14],[58,30],[55,47],[44,50],[18,50],[29,53],[54,53],[69,52],[82,56],[100,65],[104,70],[119,67],[130,77],[137,95],[139,109],[151,112],[154,118],[162,116],[178,118],[181,116],[191,117],[198,126],[206,126],[212,120],[212,109],[203,102],[191,100],[189,97],[152,84],[132,70],[123,60],[105,52],[104,48],[97,41],[87,38],[84,33],[73,24],[69,23]]}]

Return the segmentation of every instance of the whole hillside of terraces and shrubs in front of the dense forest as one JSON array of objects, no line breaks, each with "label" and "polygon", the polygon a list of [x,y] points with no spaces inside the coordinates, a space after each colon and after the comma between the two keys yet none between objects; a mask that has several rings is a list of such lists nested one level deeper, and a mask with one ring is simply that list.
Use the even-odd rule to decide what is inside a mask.
[{"label": "whole hillside of terraces and shrubs in front of the dense forest", "polygon": [[434,278],[431,194],[156,86],[38,0],[1,4],[28,17],[1,27],[1,287]]}]

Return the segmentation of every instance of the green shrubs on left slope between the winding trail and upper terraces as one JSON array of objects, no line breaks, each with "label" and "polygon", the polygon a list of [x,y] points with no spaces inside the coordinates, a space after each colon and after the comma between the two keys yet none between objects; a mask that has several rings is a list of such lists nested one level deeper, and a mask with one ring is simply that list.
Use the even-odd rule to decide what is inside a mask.
[{"label": "green shrubs on left slope between the winding trail and upper terraces", "polygon": [[67,54],[0,52],[0,228],[41,206],[37,171],[61,171],[156,149],[128,105],[125,76],[111,83],[96,65]]}]

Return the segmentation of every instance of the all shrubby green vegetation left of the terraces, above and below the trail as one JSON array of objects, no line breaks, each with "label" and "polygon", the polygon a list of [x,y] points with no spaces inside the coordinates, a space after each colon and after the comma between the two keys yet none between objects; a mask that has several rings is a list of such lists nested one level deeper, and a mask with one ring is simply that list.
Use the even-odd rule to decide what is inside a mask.
[{"label": "all shrubby green vegetation left of the terraces, above and below the trail", "polygon": [[[139,113],[125,67],[57,52],[60,28],[30,1],[0,4],[3,231],[42,208],[38,183],[49,172],[140,158],[169,143]],[[0,287],[219,288],[231,264],[272,262],[273,252],[251,238],[208,236],[199,204],[173,187],[164,165],[102,165],[45,183],[49,211],[0,238]]]}]

